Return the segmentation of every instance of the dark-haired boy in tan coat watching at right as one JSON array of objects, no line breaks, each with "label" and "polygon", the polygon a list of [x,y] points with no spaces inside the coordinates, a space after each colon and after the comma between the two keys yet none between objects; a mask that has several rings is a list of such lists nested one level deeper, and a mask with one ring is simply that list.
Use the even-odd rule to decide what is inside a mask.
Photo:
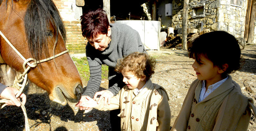
[{"label": "dark-haired boy in tan coat watching at right", "polygon": [[230,73],[241,68],[239,43],[224,31],[205,33],[188,48],[197,79],[190,85],[172,131],[247,131],[253,100]]}]

